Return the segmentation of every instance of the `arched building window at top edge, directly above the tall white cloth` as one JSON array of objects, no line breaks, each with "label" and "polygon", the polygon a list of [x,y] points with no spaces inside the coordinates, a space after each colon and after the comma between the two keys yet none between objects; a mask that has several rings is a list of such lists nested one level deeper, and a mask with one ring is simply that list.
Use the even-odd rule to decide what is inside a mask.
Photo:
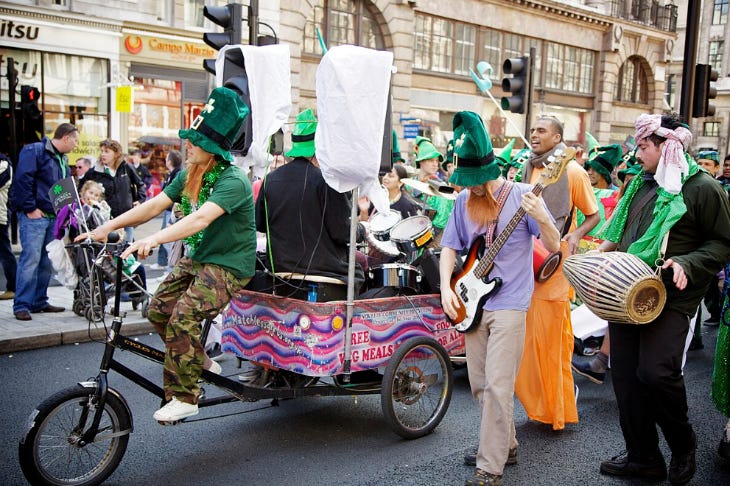
[{"label": "arched building window at top edge, directly above the tall white cloth", "polygon": [[319,0],[304,26],[303,50],[321,54],[316,29],[327,47],[353,44],[384,49],[383,32],[368,0]]}]

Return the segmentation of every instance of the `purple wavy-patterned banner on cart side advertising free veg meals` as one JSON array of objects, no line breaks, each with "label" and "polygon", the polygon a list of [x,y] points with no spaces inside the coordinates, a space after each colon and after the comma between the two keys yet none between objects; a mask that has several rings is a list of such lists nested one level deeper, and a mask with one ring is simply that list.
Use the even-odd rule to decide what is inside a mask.
[{"label": "purple wavy-patterned banner on cart side advertising free veg meals", "polygon": [[[417,336],[464,354],[464,335],[444,315],[438,295],[355,301],[351,371],[382,368]],[[306,376],[333,376],[345,361],[344,301],[307,302],[243,291],[223,313],[222,349],[240,358]]]}]

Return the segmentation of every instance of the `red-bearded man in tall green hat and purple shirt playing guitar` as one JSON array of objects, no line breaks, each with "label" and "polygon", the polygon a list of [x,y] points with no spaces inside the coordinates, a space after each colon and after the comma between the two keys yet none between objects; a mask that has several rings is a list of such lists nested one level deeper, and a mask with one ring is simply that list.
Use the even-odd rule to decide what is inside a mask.
[{"label": "red-bearded man in tall green hat and purple shirt playing guitar", "polygon": [[525,337],[525,315],[534,283],[533,236],[540,236],[549,251],[560,246],[560,235],[543,201],[531,186],[501,177],[492,144],[482,119],[465,111],[454,116],[454,165],[449,182],[467,188],[459,194],[441,240],[441,304],[452,319],[460,302],[451,288],[456,256],[486,234],[489,245],[523,208],[523,216],[500,251],[488,278],[502,285],[483,306],[481,319],[466,334],[466,358],[472,395],[481,410],[479,447],[467,453],[467,465],[476,465],[466,484],[502,484],[505,464],[517,462],[513,407],[514,382]]}]

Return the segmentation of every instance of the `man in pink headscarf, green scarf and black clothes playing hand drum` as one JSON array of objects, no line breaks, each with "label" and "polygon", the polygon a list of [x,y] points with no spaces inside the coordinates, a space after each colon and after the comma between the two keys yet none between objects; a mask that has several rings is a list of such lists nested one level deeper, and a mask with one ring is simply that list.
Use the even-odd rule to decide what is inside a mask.
[{"label": "man in pink headscarf, green scarf and black clothes playing hand drum", "polygon": [[692,134],[676,115],[641,115],[635,138],[643,170],[626,188],[599,251],[624,251],[660,265],[667,301],[648,324],[609,322],[611,376],[627,452],[603,461],[600,470],[666,478],[658,425],[672,452],[669,481],[686,484],[695,473],[697,438],[687,417],[685,342],[712,275],[730,259],[730,204],[687,154]]}]

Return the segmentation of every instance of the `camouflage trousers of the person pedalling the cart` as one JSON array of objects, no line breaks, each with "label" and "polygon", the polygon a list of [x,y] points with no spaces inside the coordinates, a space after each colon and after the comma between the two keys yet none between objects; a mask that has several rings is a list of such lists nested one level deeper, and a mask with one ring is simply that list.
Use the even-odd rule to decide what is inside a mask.
[{"label": "camouflage trousers of the person pedalling the cart", "polygon": [[184,257],[160,283],[147,317],[165,342],[165,399],[198,402],[205,362],[202,322],[217,316],[249,280]]}]

